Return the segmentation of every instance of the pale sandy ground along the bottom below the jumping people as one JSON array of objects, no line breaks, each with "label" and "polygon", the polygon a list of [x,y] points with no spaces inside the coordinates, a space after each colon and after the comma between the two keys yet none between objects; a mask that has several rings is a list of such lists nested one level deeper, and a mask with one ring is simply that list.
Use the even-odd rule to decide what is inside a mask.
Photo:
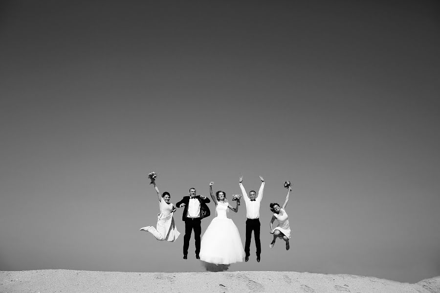
[{"label": "pale sandy ground along the bottom below the jumping people", "polygon": [[173,293],[440,293],[440,276],[416,284],[291,271],[113,272],[86,270],[0,271],[0,292]]}]

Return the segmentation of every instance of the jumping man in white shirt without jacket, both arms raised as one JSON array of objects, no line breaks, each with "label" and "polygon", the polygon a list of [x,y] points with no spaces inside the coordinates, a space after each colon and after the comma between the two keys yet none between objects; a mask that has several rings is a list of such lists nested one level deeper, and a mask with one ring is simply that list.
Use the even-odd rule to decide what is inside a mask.
[{"label": "jumping man in white shirt without jacket, both arms raised", "polygon": [[240,176],[240,189],[242,190],[244,203],[246,204],[246,242],[244,244],[244,252],[246,256],[245,261],[249,260],[250,255],[250,240],[252,238],[252,231],[254,231],[255,247],[257,248],[257,262],[260,262],[261,255],[261,242],[260,242],[260,203],[263,198],[264,191],[264,179],[260,176],[262,181],[258,195],[255,190],[251,190],[247,195],[244,190],[242,181],[243,176]]}]

